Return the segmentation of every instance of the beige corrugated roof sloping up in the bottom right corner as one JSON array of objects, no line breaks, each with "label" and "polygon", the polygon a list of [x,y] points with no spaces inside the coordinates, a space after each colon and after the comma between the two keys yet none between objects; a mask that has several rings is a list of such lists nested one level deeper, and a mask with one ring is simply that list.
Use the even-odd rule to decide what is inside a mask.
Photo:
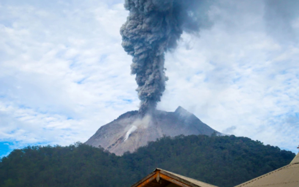
[{"label": "beige corrugated roof sloping up in the bottom right corner", "polygon": [[299,187],[299,154],[289,165],[236,187]]}]

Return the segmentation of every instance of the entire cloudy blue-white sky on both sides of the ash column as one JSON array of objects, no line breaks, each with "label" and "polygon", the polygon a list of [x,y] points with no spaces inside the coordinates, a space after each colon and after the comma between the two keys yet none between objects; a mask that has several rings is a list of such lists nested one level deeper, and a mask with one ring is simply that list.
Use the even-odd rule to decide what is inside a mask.
[{"label": "entire cloudy blue-white sky on both sides of the ash column", "polygon": [[[0,157],[86,142],[138,110],[123,0],[0,1]],[[213,23],[165,56],[157,108],[297,153],[299,1],[214,0]]]}]

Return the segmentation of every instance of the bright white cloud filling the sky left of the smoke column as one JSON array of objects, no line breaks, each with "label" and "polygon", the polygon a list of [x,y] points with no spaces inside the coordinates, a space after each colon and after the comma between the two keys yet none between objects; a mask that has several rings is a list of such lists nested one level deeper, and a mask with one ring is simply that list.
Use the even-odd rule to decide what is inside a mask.
[{"label": "bright white cloud filling the sky left of the smoke column", "polygon": [[127,15],[123,5],[55,5],[1,6],[2,141],[84,142],[101,125],[137,108],[131,58],[115,32]]}]

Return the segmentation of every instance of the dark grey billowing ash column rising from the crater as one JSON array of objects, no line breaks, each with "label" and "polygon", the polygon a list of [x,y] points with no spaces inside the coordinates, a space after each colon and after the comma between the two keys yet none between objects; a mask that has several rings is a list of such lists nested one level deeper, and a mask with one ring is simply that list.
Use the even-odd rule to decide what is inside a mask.
[{"label": "dark grey billowing ash column rising from the crater", "polygon": [[210,26],[207,0],[126,0],[130,11],[121,27],[123,47],[133,56],[132,74],[136,74],[139,113],[155,109],[165,90],[164,53],[174,49],[183,30],[196,32]]}]

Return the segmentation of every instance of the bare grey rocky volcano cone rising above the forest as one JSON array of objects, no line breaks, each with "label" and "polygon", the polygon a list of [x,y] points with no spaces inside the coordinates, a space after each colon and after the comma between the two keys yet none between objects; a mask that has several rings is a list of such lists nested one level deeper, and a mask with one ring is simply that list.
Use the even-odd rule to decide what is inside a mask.
[{"label": "bare grey rocky volcano cone rising above the forest", "polygon": [[85,144],[99,147],[116,155],[134,152],[149,141],[163,135],[211,135],[216,132],[182,107],[174,112],[156,110],[151,116],[140,119],[138,111],[127,112],[102,126]]}]

